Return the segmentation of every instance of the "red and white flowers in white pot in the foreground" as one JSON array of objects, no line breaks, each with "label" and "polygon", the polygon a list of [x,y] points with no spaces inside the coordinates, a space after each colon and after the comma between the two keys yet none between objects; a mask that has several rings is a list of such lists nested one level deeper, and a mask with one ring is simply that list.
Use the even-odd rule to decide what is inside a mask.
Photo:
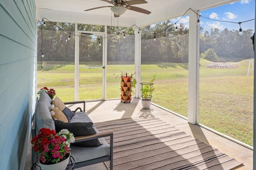
[{"label": "red and white flowers in white pot in the foreground", "polygon": [[70,143],[75,138],[67,129],[59,133],[48,128],[41,128],[31,140],[34,151],[38,153],[38,162],[42,170],[64,170],[70,158]]}]

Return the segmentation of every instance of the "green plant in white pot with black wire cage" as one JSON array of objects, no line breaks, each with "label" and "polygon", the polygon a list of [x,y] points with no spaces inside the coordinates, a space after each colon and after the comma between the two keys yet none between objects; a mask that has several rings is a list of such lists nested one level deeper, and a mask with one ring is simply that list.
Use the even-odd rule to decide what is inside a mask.
[{"label": "green plant in white pot with black wire cage", "polygon": [[153,88],[153,82],[156,79],[156,74],[153,75],[153,78],[145,83],[141,84],[141,102],[143,109],[150,109],[151,101],[152,101],[152,92],[155,90]]}]

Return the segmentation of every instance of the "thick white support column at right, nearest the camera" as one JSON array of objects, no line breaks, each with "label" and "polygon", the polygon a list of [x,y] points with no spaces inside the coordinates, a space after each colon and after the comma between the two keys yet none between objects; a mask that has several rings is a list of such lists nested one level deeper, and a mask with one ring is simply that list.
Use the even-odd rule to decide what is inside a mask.
[{"label": "thick white support column at right, nearest the camera", "polygon": [[198,117],[198,25],[197,15],[190,12],[189,16],[189,55],[188,55],[188,122],[196,124]]}]

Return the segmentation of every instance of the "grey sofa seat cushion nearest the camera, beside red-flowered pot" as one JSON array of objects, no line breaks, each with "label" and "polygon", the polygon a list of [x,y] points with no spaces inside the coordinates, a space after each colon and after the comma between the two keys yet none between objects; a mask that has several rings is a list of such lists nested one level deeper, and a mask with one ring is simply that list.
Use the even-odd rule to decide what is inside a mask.
[{"label": "grey sofa seat cushion nearest the camera, beside red-flowered pot", "polygon": [[103,143],[99,147],[78,147],[70,145],[71,154],[76,160],[76,163],[110,155],[110,146],[108,143],[104,140],[104,138],[99,139]]}]

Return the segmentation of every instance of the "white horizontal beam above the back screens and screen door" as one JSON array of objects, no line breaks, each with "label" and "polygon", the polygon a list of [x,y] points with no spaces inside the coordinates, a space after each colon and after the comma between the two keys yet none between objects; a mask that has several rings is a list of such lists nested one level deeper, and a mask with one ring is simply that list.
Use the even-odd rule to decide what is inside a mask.
[{"label": "white horizontal beam above the back screens and screen door", "polygon": [[[50,21],[85,23],[92,25],[111,25],[110,16],[84,14],[78,12],[56,11],[36,8],[36,20],[47,18]],[[130,27],[136,23],[136,18],[119,17],[120,27]],[[112,26],[117,26],[117,18],[112,18]]]}]

